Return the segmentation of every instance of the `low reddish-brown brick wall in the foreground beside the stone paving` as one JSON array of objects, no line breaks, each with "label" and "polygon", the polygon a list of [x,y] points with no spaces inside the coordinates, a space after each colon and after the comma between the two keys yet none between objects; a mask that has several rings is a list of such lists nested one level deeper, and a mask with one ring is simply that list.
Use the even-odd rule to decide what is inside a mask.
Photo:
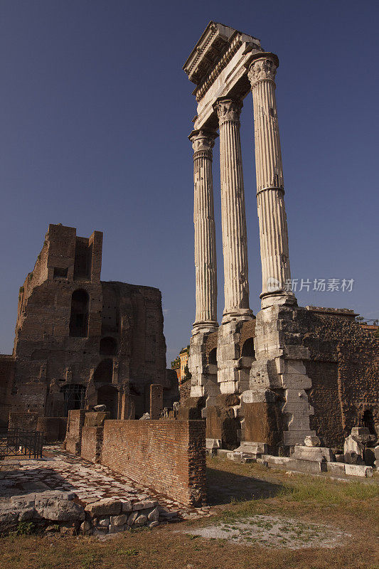
[{"label": "low reddish-brown brick wall in the foreground beside the stone paving", "polygon": [[101,462],[181,504],[205,504],[203,420],[106,420]]}]

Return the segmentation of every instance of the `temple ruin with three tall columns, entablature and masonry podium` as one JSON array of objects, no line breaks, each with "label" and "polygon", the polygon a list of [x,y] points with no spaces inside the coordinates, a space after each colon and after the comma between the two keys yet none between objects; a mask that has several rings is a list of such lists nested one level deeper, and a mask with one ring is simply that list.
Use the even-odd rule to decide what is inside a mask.
[{"label": "temple ruin with three tall columns, entablature and masonry podium", "polygon": [[[293,447],[315,432],[327,445],[351,427],[379,429],[378,340],[347,309],[299,307],[291,280],[275,77],[277,55],[260,41],[210,22],[183,69],[195,83],[193,145],[196,319],[188,367],[207,445],[252,452]],[[249,304],[240,144],[242,101],[252,93],[261,310]],[[224,264],[217,321],[212,159],[220,139]],[[196,413],[195,413],[196,415]],[[366,426],[366,425],[365,425]]]}]

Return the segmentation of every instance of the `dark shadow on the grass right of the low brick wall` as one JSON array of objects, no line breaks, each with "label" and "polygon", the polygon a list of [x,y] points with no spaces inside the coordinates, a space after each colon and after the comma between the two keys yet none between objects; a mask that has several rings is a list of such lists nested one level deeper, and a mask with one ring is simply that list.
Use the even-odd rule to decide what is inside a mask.
[{"label": "dark shadow on the grass right of the low brick wall", "polygon": [[215,468],[207,468],[207,499],[209,506],[230,504],[231,501],[272,498],[282,490],[280,484],[264,482]]}]

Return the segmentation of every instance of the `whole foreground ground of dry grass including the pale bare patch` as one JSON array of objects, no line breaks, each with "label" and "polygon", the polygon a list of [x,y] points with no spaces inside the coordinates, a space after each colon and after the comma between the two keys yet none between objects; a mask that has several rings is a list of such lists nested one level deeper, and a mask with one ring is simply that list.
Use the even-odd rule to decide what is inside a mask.
[{"label": "whole foreground ground of dry grass including the pale bare patch", "polygon": [[0,538],[0,567],[379,569],[378,477],[343,483],[208,459],[208,499],[208,518],[102,541],[60,534]]}]

